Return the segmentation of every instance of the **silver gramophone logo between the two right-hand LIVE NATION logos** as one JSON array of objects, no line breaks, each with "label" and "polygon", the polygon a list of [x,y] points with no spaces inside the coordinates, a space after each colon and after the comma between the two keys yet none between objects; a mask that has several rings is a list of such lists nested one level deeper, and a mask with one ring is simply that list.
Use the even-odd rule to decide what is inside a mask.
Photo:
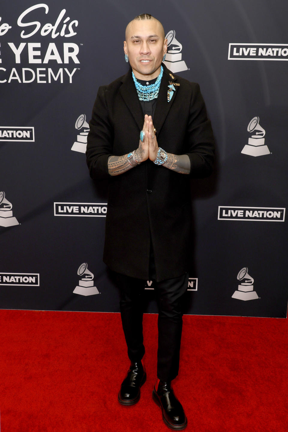
[{"label": "silver gramophone logo between the two right-hand LIVE NATION logos", "polygon": [[241,153],[249,156],[269,155],[269,148],[265,144],[265,130],[259,124],[259,117],[253,117],[247,127],[247,131],[252,133]]}]

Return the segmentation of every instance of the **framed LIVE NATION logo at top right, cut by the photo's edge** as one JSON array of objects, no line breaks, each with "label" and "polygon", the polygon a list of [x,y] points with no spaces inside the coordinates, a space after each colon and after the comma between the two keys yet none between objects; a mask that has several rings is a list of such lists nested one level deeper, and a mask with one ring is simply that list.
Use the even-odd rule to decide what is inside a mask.
[{"label": "framed LIVE NATION logo at top right, cut by the photo's edge", "polygon": [[288,44],[229,44],[228,60],[288,60]]}]

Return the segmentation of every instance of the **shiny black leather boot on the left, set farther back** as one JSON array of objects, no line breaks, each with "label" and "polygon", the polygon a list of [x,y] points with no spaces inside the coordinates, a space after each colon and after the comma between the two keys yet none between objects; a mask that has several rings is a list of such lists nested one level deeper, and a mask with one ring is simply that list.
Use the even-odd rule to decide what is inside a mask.
[{"label": "shiny black leather boot on the left, set farther back", "polygon": [[126,378],[121,384],[118,400],[121,405],[134,405],[140,399],[140,387],[146,381],[145,368],[142,362],[131,362]]}]

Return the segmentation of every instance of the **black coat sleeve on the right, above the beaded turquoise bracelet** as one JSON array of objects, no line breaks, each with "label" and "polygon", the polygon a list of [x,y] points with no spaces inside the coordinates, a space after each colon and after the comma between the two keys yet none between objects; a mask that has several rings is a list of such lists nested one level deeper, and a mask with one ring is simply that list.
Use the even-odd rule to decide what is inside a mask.
[{"label": "black coat sleeve on the right, above the beaded turquoise bracelet", "polygon": [[190,177],[203,178],[212,172],[215,155],[214,136],[199,84],[194,84],[187,124],[187,154],[190,158]]}]

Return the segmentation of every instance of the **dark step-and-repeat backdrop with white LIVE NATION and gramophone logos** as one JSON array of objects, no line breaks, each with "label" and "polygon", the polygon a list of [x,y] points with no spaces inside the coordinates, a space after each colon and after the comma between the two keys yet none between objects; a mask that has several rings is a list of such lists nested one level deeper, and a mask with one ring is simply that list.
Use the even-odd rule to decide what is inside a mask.
[{"label": "dark step-and-repeat backdrop with white LIVE NATION and gramophone logos", "polygon": [[[85,149],[98,87],[128,70],[125,28],[139,13],[163,23],[168,69],[200,84],[217,144],[213,175],[191,182],[185,313],[285,318],[282,0],[1,3],[0,308],[119,311],[102,262],[108,185],[89,177]],[[145,296],[157,312],[152,281]]]}]

